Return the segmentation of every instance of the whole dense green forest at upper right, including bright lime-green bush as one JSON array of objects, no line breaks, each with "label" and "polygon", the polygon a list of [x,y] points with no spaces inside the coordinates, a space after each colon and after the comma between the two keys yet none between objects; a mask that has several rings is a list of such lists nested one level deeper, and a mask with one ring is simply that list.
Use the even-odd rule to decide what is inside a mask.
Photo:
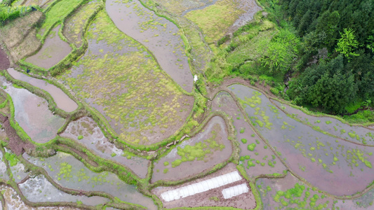
[{"label": "whole dense green forest at upper right, including bright lime-green bush", "polygon": [[[290,77],[283,97],[295,104],[356,123],[374,121],[374,1],[260,3],[278,32],[253,64],[259,74]],[[248,73],[239,70],[230,69]]]}]

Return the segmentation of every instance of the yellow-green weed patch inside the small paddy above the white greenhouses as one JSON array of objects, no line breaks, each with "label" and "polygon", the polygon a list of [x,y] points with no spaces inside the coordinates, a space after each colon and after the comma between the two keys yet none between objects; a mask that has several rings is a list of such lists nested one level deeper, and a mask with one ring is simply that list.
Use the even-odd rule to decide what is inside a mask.
[{"label": "yellow-green weed patch inside the small paddy above the white greenhouses", "polygon": [[[171,162],[172,167],[178,167],[182,162],[194,161],[194,160],[204,160],[208,154],[213,154],[214,151],[222,151],[225,148],[224,144],[218,144],[215,141],[217,137],[217,132],[215,130],[220,130],[220,125],[216,124],[211,132],[211,137],[204,141],[199,141],[194,146],[186,145],[184,148],[178,146],[178,155],[180,159]],[[164,164],[165,165],[165,164]]]}]

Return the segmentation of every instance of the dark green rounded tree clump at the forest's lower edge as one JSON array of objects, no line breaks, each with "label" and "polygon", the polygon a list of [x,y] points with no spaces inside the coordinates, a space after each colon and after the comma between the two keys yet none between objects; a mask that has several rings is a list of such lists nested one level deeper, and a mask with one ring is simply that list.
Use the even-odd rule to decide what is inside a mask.
[{"label": "dark green rounded tree clump at the forest's lower edge", "polygon": [[298,104],[321,106],[333,113],[343,113],[345,106],[356,99],[357,84],[352,71],[345,71],[343,58],[309,67],[288,91]]}]

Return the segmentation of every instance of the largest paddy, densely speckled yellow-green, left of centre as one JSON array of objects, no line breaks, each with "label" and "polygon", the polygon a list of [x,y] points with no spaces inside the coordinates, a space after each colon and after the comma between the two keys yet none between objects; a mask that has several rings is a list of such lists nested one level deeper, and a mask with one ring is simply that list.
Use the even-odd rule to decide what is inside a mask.
[{"label": "largest paddy, densely speckled yellow-green, left of centre", "polygon": [[[76,67],[60,78],[79,97],[102,109],[120,139],[154,144],[174,134],[192,109],[192,97],[182,94],[147,49],[119,31],[105,12],[98,13],[87,37],[114,52],[88,46]],[[74,71],[79,74],[73,76]]]}]

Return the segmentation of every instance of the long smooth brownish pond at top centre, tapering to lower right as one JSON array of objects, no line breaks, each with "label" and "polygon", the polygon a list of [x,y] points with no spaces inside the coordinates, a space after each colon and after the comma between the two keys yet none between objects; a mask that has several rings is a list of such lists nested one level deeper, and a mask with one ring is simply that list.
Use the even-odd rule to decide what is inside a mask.
[{"label": "long smooth brownish pond at top centre, tapering to lower right", "polygon": [[176,25],[155,15],[137,0],[130,3],[108,0],[105,8],[116,27],[145,45],[161,69],[184,90],[192,92],[194,81],[185,55],[185,44]]}]

